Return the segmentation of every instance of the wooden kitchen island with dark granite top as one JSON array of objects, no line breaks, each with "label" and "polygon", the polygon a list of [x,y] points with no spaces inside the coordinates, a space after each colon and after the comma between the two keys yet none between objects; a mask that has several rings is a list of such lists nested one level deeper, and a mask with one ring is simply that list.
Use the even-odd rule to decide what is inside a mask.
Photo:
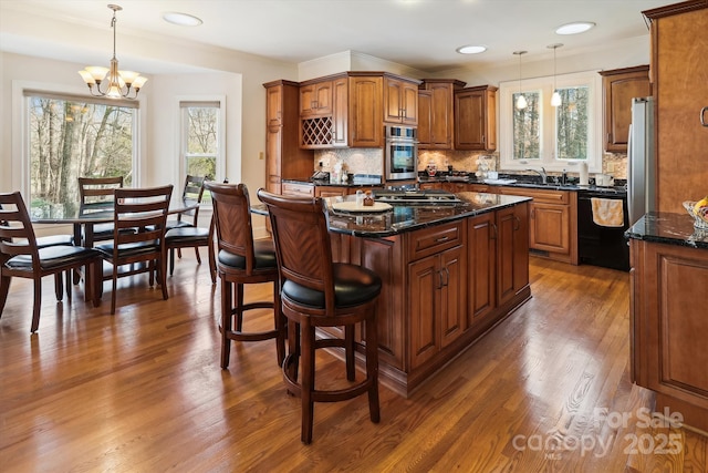
[{"label": "wooden kitchen island with dark granite top", "polygon": [[[456,195],[454,203],[393,204],[382,213],[330,210],[333,258],[383,280],[379,373],[404,397],[531,297],[531,199]],[[355,197],[327,203],[342,199]]]}]

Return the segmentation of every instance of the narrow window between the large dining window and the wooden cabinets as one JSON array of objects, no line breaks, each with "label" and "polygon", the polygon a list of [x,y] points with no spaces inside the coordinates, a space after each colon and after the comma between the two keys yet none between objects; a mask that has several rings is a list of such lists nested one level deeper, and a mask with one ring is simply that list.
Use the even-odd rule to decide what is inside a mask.
[{"label": "narrow window between the large dining window and the wooden cabinets", "polygon": [[[184,177],[206,176],[209,179],[221,179],[223,150],[223,117],[221,103],[180,102],[181,109],[181,150]],[[208,191],[204,193],[204,203],[210,203]]]}]

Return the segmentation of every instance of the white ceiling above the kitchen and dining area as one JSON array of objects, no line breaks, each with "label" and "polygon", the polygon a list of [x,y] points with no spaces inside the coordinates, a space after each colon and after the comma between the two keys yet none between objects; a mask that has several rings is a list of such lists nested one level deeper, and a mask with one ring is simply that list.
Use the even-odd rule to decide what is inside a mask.
[{"label": "white ceiling above the kitchen and dining area", "polygon": [[[291,63],[355,51],[426,72],[552,55],[582,53],[648,34],[643,10],[671,0],[112,0],[117,13],[118,56],[122,34],[156,34],[218,45]],[[108,0],[0,0],[0,10],[43,16],[53,22],[104,28],[112,37]],[[166,11],[194,14],[199,27],[177,27],[162,19]],[[0,11],[1,13],[1,11]],[[597,25],[583,34],[558,35],[571,21]],[[76,30],[80,31],[80,30]],[[0,31],[2,33],[2,31]],[[465,44],[487,52],[461,55]],[[52,56],[58,41],[0,35],[0,49]],[[64,54],[65,55],[64,48]],[[75,51],[81,62],[81,51]],[[66,59],[63,58],[62,59]],[[121,58],[125,59],[125,58]]]}]

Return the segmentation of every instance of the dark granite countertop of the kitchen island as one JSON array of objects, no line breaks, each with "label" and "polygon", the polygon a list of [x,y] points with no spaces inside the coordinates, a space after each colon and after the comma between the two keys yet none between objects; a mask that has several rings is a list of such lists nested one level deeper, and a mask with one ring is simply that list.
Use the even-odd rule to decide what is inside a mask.
[{"label": "dark granite countertop of the kitchen island", "polygon": [[[475,192],[456,194],[460,202],[448,204],[391,204],[392,209],[379,213],[344,213],[332,210],[335,202],[355,202],[356,196],[329,197],[330,230],[352,236],[381,238],[431,227],[488,212],[511,207],[530,197]],[[267,215],[263,204],[253,204],[251,210]]]}]

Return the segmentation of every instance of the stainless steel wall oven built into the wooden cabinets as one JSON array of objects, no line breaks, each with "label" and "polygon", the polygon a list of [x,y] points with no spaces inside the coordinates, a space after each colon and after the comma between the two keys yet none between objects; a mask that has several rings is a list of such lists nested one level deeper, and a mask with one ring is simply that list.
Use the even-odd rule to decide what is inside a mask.
[{"label": "stainless steel wall oven built into the wooden cabinets", "polygon": [[386,181],[418,177],[417,130],[409,126],[386,125],[384,167]]}]

